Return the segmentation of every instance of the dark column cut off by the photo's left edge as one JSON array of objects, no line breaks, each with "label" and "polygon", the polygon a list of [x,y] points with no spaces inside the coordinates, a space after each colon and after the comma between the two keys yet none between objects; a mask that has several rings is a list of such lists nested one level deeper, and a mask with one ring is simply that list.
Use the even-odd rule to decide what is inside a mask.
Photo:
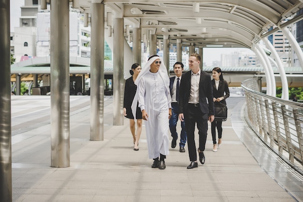
[{"label": "dark column cut off by the photo's left edge", "polygon": [[10,1],[0,10],[0,201],[12,202]]}]

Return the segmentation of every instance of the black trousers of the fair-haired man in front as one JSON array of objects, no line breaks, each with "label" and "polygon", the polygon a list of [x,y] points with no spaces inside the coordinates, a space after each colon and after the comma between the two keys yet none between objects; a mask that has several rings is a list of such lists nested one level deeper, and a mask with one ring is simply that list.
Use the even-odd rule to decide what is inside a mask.
[{"label": "black trousers of the fair-haired man in front", "polygon": [[188,104],[188,110],[184,113],[185,130],[187,133],[187,146],[190,161],[197,161],[197,149],[195,142],[195,127],[197,123],[197,129],[199,134],[199,150],[203,152],[205,150],[205,143],[207,139],[208,129],[208,114],[203,114],[197,105]]}]

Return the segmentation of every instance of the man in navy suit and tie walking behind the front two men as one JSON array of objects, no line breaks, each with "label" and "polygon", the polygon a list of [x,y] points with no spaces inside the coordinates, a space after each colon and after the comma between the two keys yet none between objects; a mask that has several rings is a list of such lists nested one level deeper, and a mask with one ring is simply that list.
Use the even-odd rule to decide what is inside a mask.
[{"label": "man in navy suit and tie walking behind the front two men", "polygon": [[[182,62],[176,62],[174,64],[174,72],[175,77],[171,77],[169,82],[169,90],[171,95],[171,117],[169,119],[169,130],[171,133],[172,141],[171,148],[175,148],[177,145],[178,133],[176,130],[178,117],[179,117],[179,108],[178,108],[178,100],[179,100],[179,87],[182,78],[182,71],[184,65]],[[181,122],[181,134],[180,134],[180,152],[185,152],[184,146],[186,143],[186,131],[185,131],[185,122]]]}]

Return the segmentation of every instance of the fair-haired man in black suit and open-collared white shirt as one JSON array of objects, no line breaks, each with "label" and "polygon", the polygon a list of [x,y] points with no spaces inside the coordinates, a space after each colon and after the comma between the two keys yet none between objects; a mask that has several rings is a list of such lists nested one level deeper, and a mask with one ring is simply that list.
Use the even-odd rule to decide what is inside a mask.
[{"label": "fair-haired man in black suit and open-collared white shirt", "polygon": [[[188,71],[182,75],[179,94],[179,119],[185,121],[187,146],[191,163],[187,169],[197,168],[197,151],[195,143],[195,125],[199,134],[199,160],[205,162],[205,143],[207,138],[207,121],[213,122],[214,108],[211,76],[200,70],[201,56],[193,53],[189,57]],[[206,99],[207,98],[207,99]]]}]

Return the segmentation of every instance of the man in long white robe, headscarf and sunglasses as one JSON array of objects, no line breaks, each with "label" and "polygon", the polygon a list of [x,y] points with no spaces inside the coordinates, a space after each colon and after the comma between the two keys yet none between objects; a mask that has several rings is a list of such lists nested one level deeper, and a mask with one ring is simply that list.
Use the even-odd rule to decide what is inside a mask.
[{"label": "man in long white robe, headscarf and sunglasses", "polygon": [[146,121],[149,158],[154,160],[152,168],[163,170],[166,168],[164,159],[169,154],[168,122],[171,116],[171,96],[167,69],[159,56],[153,55],[149,58],[135,84],[137,91],[132,107],[135,107],[134,103],[138,100],[142,118]]}]

